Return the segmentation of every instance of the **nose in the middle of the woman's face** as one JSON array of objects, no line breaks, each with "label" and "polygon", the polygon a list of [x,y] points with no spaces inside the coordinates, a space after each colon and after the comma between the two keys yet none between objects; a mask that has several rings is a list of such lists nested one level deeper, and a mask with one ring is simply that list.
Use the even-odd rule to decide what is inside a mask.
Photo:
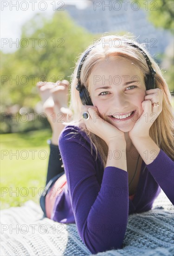
[{"label": "nose in the middle of the woman's face", "polygon": [[124,94],[116,94],[112,98],[112,106],[114,106],[115,113],[124,113],[128,111],[129,101]]}]

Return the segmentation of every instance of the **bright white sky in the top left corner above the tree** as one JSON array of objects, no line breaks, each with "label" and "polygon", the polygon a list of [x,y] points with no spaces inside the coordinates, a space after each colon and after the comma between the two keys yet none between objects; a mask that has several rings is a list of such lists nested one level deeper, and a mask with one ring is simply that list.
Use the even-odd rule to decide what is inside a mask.
[{"label": "bright white sky in the top left corner above the tree", "polygon": [[77,8],[85,8],[87,0],[0,0],[0,49],[10,53],[17,48],[13,41],[20,39],[22,25],[35,13],[43,13],[52,17],[54,10],[64,9],[64,4],[75,4]]}]

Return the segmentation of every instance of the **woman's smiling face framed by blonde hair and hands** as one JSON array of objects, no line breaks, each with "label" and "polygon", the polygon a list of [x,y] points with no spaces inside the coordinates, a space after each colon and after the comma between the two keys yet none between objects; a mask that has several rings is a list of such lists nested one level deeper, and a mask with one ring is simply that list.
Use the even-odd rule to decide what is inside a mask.
[{"label": "woman's smiling face framed by blonde hair and hands", "polygon": [[115,57],[98,63],[89,90],[100,116],[122,132],[129,132],[142,115],[146,86],[141,70],[129,60]]}]

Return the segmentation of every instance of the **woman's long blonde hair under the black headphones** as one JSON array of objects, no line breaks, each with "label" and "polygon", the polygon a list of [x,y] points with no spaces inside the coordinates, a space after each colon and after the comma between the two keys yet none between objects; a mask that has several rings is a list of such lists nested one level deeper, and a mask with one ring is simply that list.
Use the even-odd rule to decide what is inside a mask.
[{"label": "woman's long blonde hair under the black headphones", "polygon": [[[81,74],[80,81],[88,91],[89,88],[89,76],[91,74],[92,69],[97,65],[97,63],[109,58],[109,57],[122,57],[127,59],[140,68],[144,78],[146,74],[149,74],[149,68],[146,63],[146,60],[143,54],[138,51],[135,47],[130,46],[127,42],[132,42],[128,36],[115,36],[109,35],[100,38],[98,40],[96,47],[93,47],[86,57]],[[119,43],[119,45],[118,45]],[[135,44],[135,41],[134,41]],[[94,45],[90,45],[92,47]],[[104,47],[103,47],[104,46]],[[143,45],[139,45],[142,50],[148,55],[152,67],[155,69],[155,86],[163,91],[163,101],[162,101],[162,112],[157,117],[155,122],[150,128],[149,135],[155,141],[159,148],[161,148],[171,159],[174,158],[174,148],[173,148],[173,112],[172,106],[170,103],[171,94],[169,92],[168,86],[162,77],[161,70],[158,67],[157,63],[152,59],[147,50]],[[87,49],[90,49],[88,47]],[[86,50],[87,50],[86,49]],[[86,52],[86,50],[84,52]],[[70,109],[74,114],[73,121],[71,124],[80,127],[84,132],[89,136],[90,146],[91,146],[91,154],[92,148],[95,148],[97,155],[101,156],[103,161],[103,166],[105,167],[107,161],[108,154],[108,146],[100,137],[94,135],[89,132],[85,126],[84,120],[81,117],[81,107],[82,102],[79,96],[79,92],[76,90],[77,86],[77,68],[79,66],[80,60],[82,56],[81,54],[74,73],[71,76],[71,101],[70,101]]]}]

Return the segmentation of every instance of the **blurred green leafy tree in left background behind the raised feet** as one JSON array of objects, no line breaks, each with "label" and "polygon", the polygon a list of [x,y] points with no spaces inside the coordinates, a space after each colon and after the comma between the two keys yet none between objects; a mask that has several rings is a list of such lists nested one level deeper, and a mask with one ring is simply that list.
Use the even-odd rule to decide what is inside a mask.
[{"label": "blurred green leafy tree in left background behind the raised feet", "polygon": [[1,111],[7,106],[34,107],[39,100],[38,81],[70,80],[75,59],[93,36],[64,12],[52,19],[36,14],[22,28],[19,47],[1,54]]}]

